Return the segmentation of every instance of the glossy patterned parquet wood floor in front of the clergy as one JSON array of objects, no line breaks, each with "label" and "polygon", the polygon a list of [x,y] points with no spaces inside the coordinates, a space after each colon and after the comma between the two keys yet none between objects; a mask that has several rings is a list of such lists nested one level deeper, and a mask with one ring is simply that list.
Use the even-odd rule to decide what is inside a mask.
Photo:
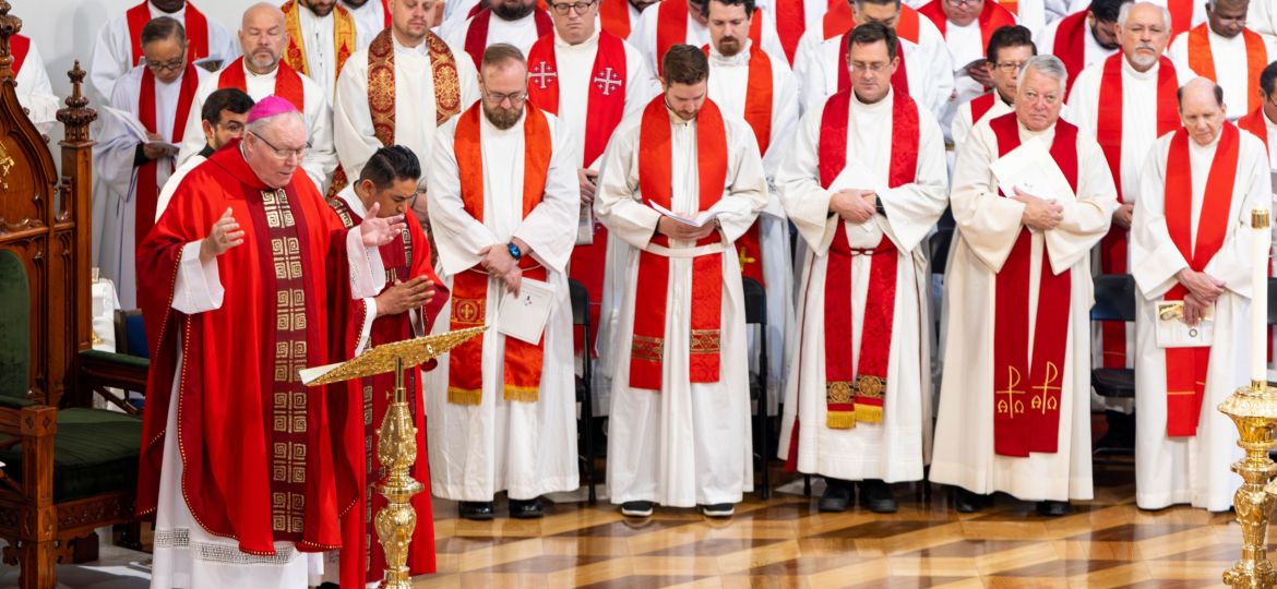
[{"label": "glossy patterned parquet wood floor in front of the clergy", "polygon": [[1006,496],[962,515],[948,490],[919,490],[896,486],[900,511],[885,516],[750,495],[729,520],[660,507],[630,520],[599,501],[555,504],[530,521],[499,502],[495,520],[476,523],[435,500],[439,572],[414,588],[1175,589],[1220,586],[1240,555],[1231,513],[1137,509],[1129,464],[1097,465],[1096,500],[1059,519]]}]

